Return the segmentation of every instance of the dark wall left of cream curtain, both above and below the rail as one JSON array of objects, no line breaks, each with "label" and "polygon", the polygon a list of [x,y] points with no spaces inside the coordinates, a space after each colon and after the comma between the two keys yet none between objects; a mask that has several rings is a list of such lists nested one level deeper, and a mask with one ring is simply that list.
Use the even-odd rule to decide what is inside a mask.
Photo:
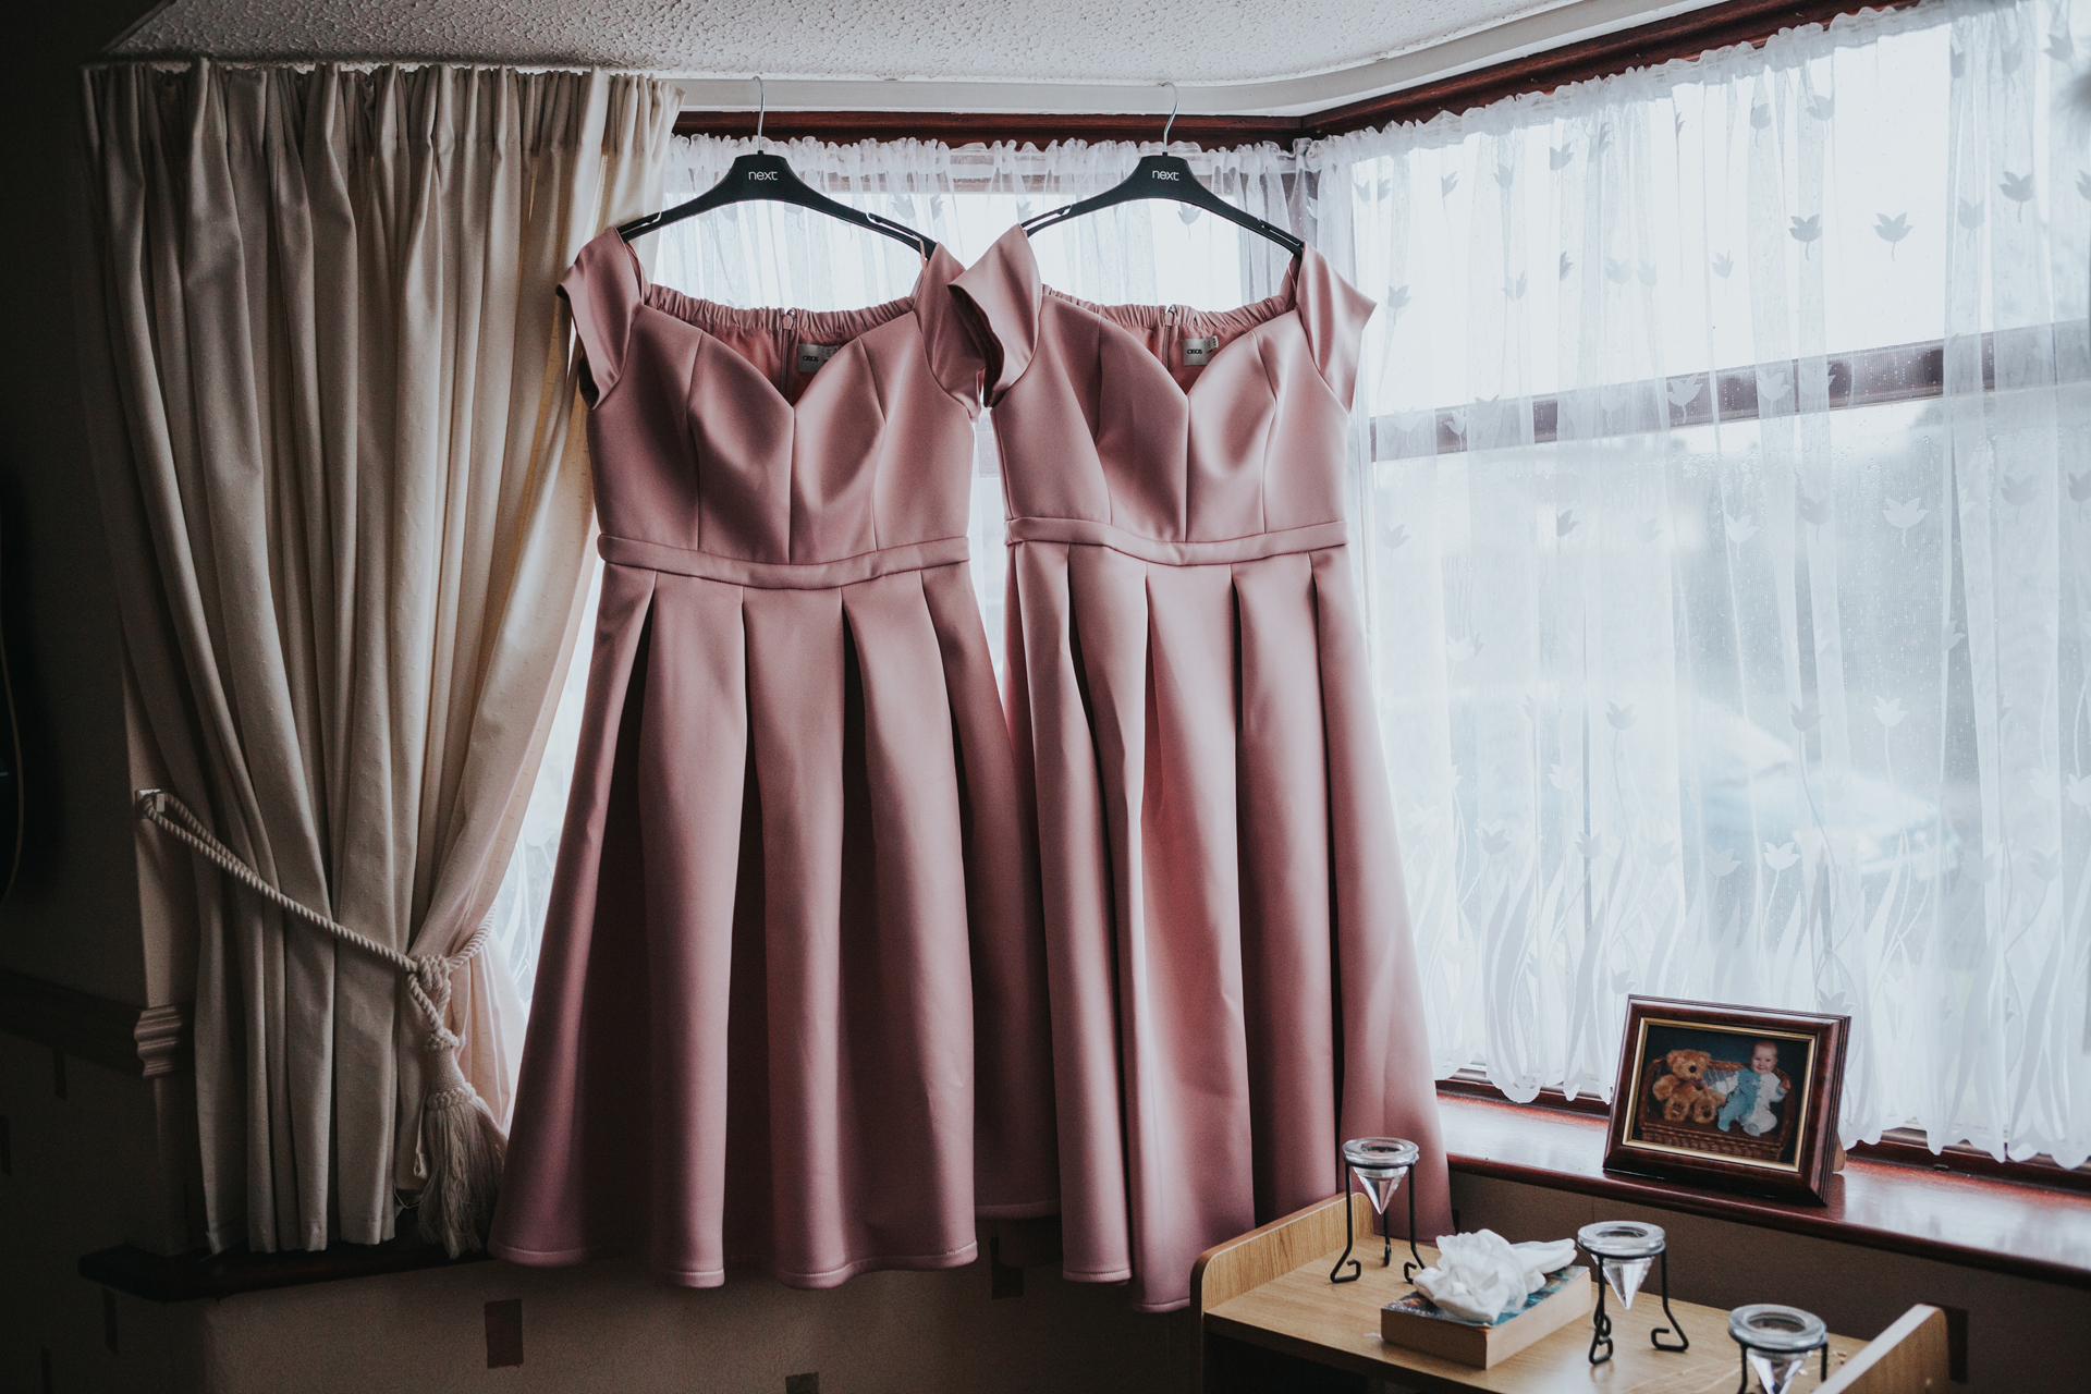
[{"label": "dark wall left of cream curtain, both above and below the rail", "polygon": [[[8,10],[0,84],[0,629],[29,838],[0,901],[0,968],[148,1005],[115,591],[77,395],[71,309],[79,65],[148,0]],[[63,1083],[63,1091],[61,1091]],[[174,1093],[180,1093],[176,1089]],[[0,1035],[0,1390],[151,1388],[178,1312],[109,1350],[79,1254],[165,1233],[155,1087]],[[174,1200],[178,1210],[178,1198]],[[48,1379],[46,1379],[48,1361]],[[88,1363],[109,1375],[88,1375]]]}]

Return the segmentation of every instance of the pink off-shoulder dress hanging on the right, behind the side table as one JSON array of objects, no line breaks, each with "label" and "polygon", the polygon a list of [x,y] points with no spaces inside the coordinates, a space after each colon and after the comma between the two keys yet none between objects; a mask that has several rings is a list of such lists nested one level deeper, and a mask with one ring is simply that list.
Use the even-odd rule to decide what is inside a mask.
[{"label": "pink off-shoulder dress hanging on the right, behind the side table", "polygon": [[1089,305],[1020,228],[953,291],[1010,514],[1066,1275],[1184,1306],[1202,1250],[1342,1189],[1347,1137],[1420,1143],[1447,1233],[1340,497],[1372,301],[1309,247],[1242,309]]}]

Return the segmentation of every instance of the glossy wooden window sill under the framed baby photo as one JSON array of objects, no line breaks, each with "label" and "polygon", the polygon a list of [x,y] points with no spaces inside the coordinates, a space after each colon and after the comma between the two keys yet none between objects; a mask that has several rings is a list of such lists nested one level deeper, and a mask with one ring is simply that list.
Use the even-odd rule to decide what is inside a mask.
[{"label": "glossy wooden window sill under the framed baby photo", "polygon": [[1451,1170],[2091,1290],[2091,1195],[1851,1158],[1828,1206],[1604,1170],[1606,1118],[1441,1093]]}]

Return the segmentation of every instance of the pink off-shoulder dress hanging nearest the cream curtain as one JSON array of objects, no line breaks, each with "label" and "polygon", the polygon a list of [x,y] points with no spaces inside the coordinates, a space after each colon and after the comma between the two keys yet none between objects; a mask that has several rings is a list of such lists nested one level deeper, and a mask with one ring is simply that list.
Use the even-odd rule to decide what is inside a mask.
[{"label": "pink off-shoulder dress hanging nearest the cream curtain", "polygon": [[602,604],[491,1250],[828,1287],[1058,1208],[1037,867],[966,573],[981,362],[560,282]]}]

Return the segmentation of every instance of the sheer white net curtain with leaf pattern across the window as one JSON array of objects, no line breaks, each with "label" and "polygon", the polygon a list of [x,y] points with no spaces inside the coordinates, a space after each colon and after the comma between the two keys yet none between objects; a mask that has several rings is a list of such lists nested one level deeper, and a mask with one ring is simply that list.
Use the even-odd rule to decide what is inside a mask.
[{"label": "sheer white net curtain with leaf pattern across the window", "polygon": [[[1382,303],[1353,537],[1439,1074],[1608,1095],[1629,993],[1848,1012],[1846,1141],[2091,1154],[2085,56],[2085,6],[1924,4],[1194,157]],[[744,148],[677,142],[669,199]],[[1140,155],[784,150],[962,261]],[[665,284],[740,305],[916,274],[769,205],[657,240]],[[1284,270],[1167,203],[1037,251],[1098,301]],[[985,426],[972,520],[999,648]],[[502,899],[525,991],[562,750]]]}]

